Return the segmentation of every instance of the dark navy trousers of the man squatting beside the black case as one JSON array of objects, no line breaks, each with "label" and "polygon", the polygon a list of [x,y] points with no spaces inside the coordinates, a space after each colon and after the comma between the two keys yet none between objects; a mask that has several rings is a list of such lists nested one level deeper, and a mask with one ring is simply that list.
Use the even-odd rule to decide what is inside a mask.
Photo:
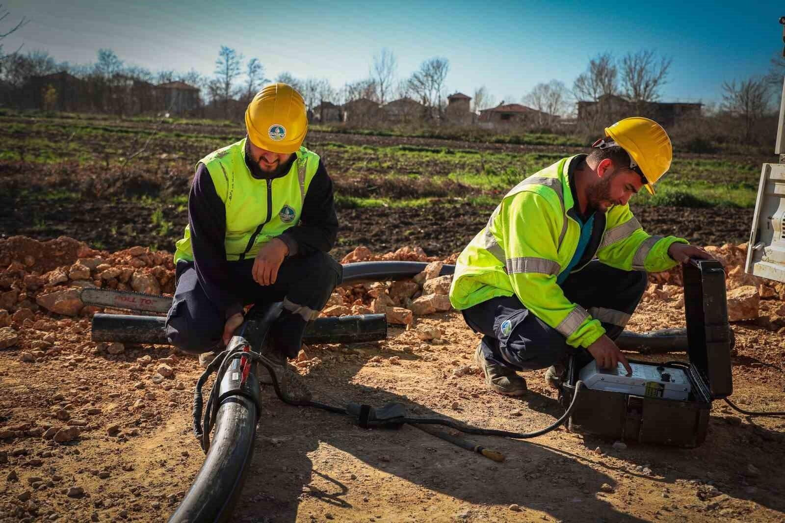
[{"label": "dark navy trousers of the man squatting beside the black case", "polygon": [[[568,300],[600,320],[608,337],[615,339],[641,301],[646,285],[646,272],[627,272],[594,260],[568,276],[560,287]],[[516,296],[491,298],[465,309],[463,317],[469,327],[484,334],[481,346],[491,363],[533,371],[575,353],[591,360],[586,351],[568,346],[564,335],[531,313]]]}]

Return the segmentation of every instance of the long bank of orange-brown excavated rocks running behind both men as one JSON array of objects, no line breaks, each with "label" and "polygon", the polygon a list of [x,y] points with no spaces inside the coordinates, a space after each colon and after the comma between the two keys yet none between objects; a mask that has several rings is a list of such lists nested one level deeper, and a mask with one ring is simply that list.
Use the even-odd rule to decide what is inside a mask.
[{"label": "long bank of orange-brown excavated rocks running behind both men", "polygon": [[[761,300],[767,305],[766,327],[785,329],[785,283],[750,276],[743,266],[747,244],[707,247],[725,265],[728,287],[728,316],[731,321],[758,320]],[[444,313],[451,309],[448,298],[451,275],[440,276],[445,263],[455,263],[458,254],[445,260],[429,257],[420,247],[401,247],[374,254],[357,247],[341,263],[367,261],[429,262],[425,270],[409,280],[356,283],[338,287],[323,309],[323,316],[384,313],[391,324],[410,325],[414,316]],[[16,345],[20,327],[35,327],[47,316],[91,316],[97,307],[79,299],[83,287],[102,287],[144,294],[174,291],[172,254],[131,247],[109,253],[61,236],[39,242],[24,236],[0,240],[0,349]],[[683,306],[681,269],[649,275],[644,300],[675,302]],[[48,318],[51,320],[51,317]]]}]

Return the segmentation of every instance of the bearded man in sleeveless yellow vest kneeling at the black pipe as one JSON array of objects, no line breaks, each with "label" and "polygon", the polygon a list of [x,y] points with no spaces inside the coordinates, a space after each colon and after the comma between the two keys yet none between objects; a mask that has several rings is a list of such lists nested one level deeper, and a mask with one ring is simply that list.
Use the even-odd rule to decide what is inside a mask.
[{"label": "bearded man in sleeveless yellow vest kneeling at the black pipe", "polygon": [[[302,147],[305,102],[284,83],[248,104],[246,137],[199,160],[188,226],[174,254],[170,343],[203,365],[243,323],[243,305],[283,302],[268,357],[296,357],[303,331],[327,302],[341,265],[327,251],[338,232],[333,184]],[[261,367],[261,366],[260,366]]]}]

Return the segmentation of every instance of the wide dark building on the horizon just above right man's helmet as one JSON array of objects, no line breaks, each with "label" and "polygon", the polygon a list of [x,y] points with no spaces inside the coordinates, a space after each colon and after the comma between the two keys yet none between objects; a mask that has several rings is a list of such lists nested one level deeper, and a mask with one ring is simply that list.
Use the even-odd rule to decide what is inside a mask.
[{"label": "wide dark building on the horizon just above right man's helmet", "polygon": [[578,121],[604,118],[615,120],[627,116],[646,116],[663,126],[671,126],[688,115],[700,115],[703,104],[682,102],[636,103],[615,94],[604,94],[597,101],[578,102]]}]

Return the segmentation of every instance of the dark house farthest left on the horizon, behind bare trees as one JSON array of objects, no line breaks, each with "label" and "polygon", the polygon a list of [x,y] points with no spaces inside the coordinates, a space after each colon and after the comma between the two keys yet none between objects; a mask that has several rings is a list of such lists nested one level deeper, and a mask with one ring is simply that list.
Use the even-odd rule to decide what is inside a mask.
[{"label": "dark house farthest left on the horizon, behind bare trees", "polygon": [[86,82],[67,71],[32,76],[22,88],[22,107],[79,111],[89,99]]}]

